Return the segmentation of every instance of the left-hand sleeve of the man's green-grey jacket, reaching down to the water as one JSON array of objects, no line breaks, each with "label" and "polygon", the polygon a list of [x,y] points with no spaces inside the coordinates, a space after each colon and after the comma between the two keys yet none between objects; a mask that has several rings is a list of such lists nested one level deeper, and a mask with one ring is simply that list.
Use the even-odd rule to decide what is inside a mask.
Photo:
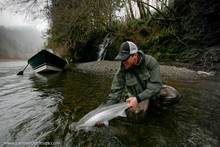
[{"label": "left-hand sleeve of the man's green-grey jacket, reaching down to the water", "polygon": [[125,79],[123,72],[119,69],[114,75],[111,92],[109,93],[106,101],[106,105],[118,103],[125,89]]}]

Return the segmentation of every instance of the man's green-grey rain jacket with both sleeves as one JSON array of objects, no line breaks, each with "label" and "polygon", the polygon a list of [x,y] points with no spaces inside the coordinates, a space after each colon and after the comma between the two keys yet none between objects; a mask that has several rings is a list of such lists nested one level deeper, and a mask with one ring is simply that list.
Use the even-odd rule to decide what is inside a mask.
[{"label": "man's green-grey rain jacket with both sleeves", "polygon": [[127,90],[129,96],[137,97],[138,102],[158,97],[162,87],[160,65],[152,56],[140,50],[138,54],[141,59],[137,66],[126,70],[121,65],[116,72],[106,104],[118,103],[124,90]]}]

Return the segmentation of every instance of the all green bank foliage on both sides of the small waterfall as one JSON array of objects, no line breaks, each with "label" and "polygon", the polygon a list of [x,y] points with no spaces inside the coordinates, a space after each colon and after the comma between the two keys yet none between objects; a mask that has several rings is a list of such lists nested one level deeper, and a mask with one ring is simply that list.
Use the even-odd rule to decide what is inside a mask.
[{"label": "all green bank foliage on both sides of the small waterfall", "polygon": [[116,39],[108,47],[107,60],[115,58],[126,40],[159,61],[190,62],[203,52],[199,49],[201,32],[196,32],[196,23],[187,25],[185,18],[192,21],[193,17],[182,17],[185,10],[164,6],[151,16],[122,21],[116,19],[115,10],[124,4],[121,0],[53,1],[48,46],[65,53],[71,61],[92,61],[97,58],[99,44],[111,32]]}]

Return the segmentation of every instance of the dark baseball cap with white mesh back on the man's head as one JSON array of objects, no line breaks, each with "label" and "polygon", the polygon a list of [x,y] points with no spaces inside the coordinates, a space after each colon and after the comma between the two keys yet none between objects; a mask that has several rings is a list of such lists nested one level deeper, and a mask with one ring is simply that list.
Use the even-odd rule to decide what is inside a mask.
[{"label": "dark baseball cap with white mesh back on the man's head", "polygon": [[120,51],[115,57],[115,60],[123,61],[126,60],[131,54],[137,53],[138,48],[136,44],[131,41],[123,42],[120,46]]}]

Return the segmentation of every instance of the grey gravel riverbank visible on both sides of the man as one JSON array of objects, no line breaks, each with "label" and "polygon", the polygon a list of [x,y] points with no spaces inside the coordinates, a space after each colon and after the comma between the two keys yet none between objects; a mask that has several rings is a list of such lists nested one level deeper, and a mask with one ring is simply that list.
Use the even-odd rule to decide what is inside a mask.
[{"label": "grey gravel riverbank visible on both sides of the man", "polygon": [[[71,69],[83,73],[113,76],[119,66],[120,62],[118,61],[93,61],[77,63]],[[206,77],[205,75],[198,74],[196,71],[185,67],[160,65],[160,69],[163,79],[195,80],[201,77]]]}]

